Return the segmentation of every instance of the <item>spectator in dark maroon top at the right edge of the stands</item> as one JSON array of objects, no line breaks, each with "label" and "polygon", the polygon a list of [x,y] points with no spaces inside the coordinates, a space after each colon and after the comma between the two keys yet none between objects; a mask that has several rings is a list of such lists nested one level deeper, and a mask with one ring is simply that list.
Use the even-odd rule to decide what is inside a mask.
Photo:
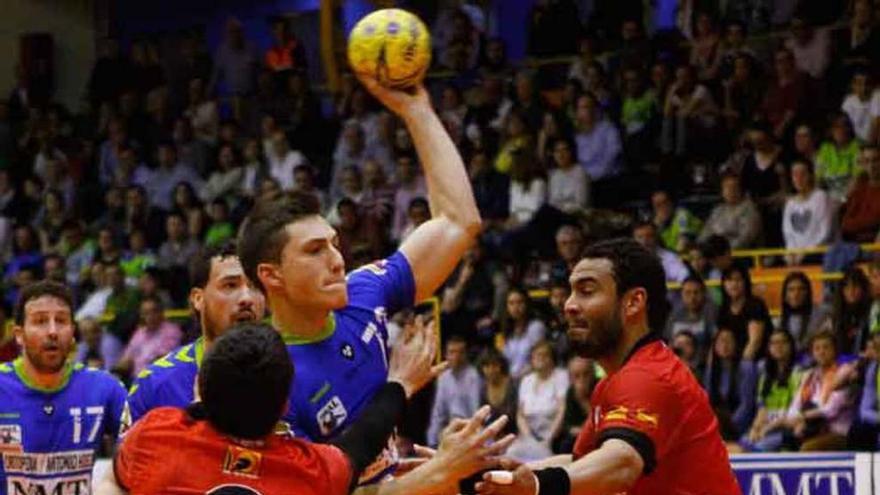
[{"label": "spectator in dark maroon top at the right edge of the stands", "polygon": [[873,242],[880,231],[880,148],[866,146],[860,159],[867,173],[858,178],[846,199],[840,230],[844,239]]}]

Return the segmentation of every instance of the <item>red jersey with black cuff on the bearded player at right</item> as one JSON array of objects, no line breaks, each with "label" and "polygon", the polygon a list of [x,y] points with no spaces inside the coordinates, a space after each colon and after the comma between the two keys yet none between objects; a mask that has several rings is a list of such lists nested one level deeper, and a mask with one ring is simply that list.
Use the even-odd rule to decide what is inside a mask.
[{"label": "red jersey with black cuff on the bearded player at right", "polygon": [[739,495],[709,398],[688,367],[655,336],[596,386],[574,446],[578,459],[609,439],[635,448],[644,474],[630,495]]}]

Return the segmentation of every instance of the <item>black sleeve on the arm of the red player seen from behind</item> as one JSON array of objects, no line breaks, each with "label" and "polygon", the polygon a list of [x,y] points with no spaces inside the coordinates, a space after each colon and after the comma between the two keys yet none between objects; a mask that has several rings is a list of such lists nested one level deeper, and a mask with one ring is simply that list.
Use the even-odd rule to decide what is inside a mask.
[{"label": "black sleeve on the arm of the red player seen from behind", "polygon": [[370,400],[357,420],[331,442],[348,456],[354,483],[388,445],[388,438],[404,413],[406,392],[403,386],[388,382]]}]

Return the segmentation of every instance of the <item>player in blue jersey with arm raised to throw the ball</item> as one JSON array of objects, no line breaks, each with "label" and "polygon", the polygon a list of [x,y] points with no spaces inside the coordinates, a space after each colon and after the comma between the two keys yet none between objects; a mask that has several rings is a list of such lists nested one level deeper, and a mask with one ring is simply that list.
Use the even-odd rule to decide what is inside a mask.
[{"label": "player in blue jersey with arm raised to throw the ball", "polygon": [[[348,277],[336,231],[308,194],[259,202],[238,241],[245,273],[266,293],[273,325],[297,369],[285,420],[315,441],[338,435],[385,383],[387,318],[433,295],[480,231],[464,164],[425,89],[408,93],[363,82],[412,136],[431,220],[392,256]],[[363,479],[382,477],[396,460],[389,446]]]}]

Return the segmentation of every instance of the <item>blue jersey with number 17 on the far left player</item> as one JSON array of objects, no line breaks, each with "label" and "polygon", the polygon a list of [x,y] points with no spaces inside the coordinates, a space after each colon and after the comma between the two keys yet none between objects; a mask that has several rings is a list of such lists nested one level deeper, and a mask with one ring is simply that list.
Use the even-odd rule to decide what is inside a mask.
[{"label": "blue jersey with number 17 on the far left player", "polygon": [[0,495],[88,495],[104,435],[130,424],[125,388],[112,375],[68,367],[54,390],[29,383],[21,358],[0,364]]}]

